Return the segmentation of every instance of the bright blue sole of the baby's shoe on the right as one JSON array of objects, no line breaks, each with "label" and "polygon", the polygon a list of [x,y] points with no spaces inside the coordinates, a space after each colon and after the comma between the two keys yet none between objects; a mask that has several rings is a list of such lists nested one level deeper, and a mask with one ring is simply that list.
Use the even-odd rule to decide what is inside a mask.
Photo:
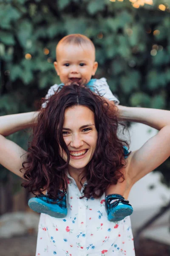
[{"label": "bright blue sole of the baby's shoe on the right", "polygon": [[108,215],[109,221],[122,221],[125,217],[131,215],[133,213],[132,207],[119,206],[115,212],[110,212]]}]

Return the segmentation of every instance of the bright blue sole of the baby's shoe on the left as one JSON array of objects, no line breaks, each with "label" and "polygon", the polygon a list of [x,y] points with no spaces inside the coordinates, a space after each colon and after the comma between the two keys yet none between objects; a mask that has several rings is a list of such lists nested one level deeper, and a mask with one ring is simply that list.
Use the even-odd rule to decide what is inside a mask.
[{"label": "bright blue sole of the baby's shoe on the left", "polygon": [[49,208],[49,204],[38,200],[38,198],[31,198],[28,201],[28,206],[34,211],[39,213],[45,213],[55,218],[64,218],[67,215],[67,208],[61,211],[61,208],[56,205],[50,205],[52,209]]}]

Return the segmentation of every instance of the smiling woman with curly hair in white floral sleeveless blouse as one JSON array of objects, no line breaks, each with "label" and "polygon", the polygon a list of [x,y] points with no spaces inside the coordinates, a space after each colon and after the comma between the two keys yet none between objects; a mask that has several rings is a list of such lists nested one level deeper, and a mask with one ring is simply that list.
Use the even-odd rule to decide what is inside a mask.
[{"label": "smiling woman with curly hair in white floral sleeveless blouse", "polygon": [[[159,132],[125,159],[117,117]],[[28,153],[5,138],[32,125]],[[67,192],[65,218],[41,214],[36,256],[135,255],[130,217],[108,221],[105,190],[115,184],[127,199],[133,184],[169,157],[169,111],[115,107],[72,84],[51,96],[40,113],[1,116],[0,134],[0,163],[24,177],[25,187],[47,189],[58,200]]]}]

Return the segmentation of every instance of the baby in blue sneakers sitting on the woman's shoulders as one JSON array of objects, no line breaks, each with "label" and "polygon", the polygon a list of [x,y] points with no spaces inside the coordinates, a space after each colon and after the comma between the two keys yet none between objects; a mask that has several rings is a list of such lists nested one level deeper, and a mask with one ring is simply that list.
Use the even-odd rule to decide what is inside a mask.
[{"label": "baby in blue sneakers sitting on the woman's shoulders", "polygon": [[[98,63],[95,61],[94,44],[89,38],[79,34],[65,36],[57,44],[56,55],[57,61],[54,62],[54,67],[62,84],[54,84],[48,90],[45,97],[47,100],[59,86],[74,81],[79,84],[85,82],[86,87],[94,93],[104,96],[111,104],[119,104],[119,100],[111,93],[105,78],[91,79],[96,73]],[[42,104],[42,108],[45,106],[46,102]],[[126,148],[124,151],[125,155],[128,155]],[[110,185],[105,191],[105,206],[109,221],[120,221],[132,214],[133,208],[123,197],[124,193],[125,186],[121,182]],[[48,198],[48,195],[38,195],[28,201],[28,206],[36,212],[57,218],[64,218],[67,215],[66,195],[60,201]]]}]

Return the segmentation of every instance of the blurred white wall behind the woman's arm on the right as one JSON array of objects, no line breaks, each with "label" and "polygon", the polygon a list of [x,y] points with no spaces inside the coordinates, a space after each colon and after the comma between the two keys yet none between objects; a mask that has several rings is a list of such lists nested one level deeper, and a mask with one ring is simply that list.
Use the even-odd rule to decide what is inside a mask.
[{"label": "blurred white wall behind the woman's arm on the right", "polygon": [[[140,148],[157,131],[147,125],[133,123],[130,128],[130,150]],[[139,228],[145,221],[159,211],[161,206],[170,201],[170,189],[160,182],[160,173],[149,173],[139,180],[131,189],[129,195],[130,204],[134,212],[131,216],[133,231]],[[154,189],[149,189],[154,185]],[[159,223],[168,221],[170,212],[159,219]]]}]

